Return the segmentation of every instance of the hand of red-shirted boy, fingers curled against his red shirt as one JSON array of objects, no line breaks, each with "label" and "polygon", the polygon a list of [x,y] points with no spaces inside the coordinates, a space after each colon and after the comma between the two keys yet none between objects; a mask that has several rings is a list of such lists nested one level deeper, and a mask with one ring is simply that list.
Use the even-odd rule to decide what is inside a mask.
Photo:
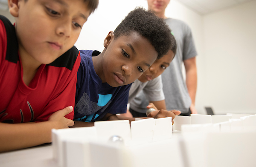
[{"label": "hand of red-shirted boy, fingers curled against his red shirt", "polygon": [[48,119],[49,122],[52,122],[55,129],[68,128],[74,125],[74,121],[68,118],[65,118],[65,115],[73,111],[73,107],[69,106],[64,109],[54,112]]}]

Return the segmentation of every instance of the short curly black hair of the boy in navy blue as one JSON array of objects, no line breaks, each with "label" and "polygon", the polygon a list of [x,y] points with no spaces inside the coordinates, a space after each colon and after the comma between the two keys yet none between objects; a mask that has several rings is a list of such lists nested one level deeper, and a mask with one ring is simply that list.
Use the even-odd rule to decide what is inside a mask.
[{"label": "short curly black hair of the boy in navy blue", "polygon": [[131,11],[116,27],[114,39],[137,32],[148,39],[157,51],[157,58],[162,58],[170,50],[172,45],[171,29],[166,22],[157,17],[153,11],[147,11],[137,7]]}]

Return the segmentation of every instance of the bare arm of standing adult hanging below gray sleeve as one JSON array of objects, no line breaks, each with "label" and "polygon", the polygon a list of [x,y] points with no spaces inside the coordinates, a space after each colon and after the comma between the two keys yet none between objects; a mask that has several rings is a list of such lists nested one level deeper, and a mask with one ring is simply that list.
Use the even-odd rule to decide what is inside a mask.
[{"label": "bare arm of standing adult hanging below gray sleeve", "polygon": [[197,114],[195,109],[195,94],[197,89],[197,68],[195,57],[184,60],[184,66],[186,69],[186,86],[192,101],[190,110],[192,114]]}]

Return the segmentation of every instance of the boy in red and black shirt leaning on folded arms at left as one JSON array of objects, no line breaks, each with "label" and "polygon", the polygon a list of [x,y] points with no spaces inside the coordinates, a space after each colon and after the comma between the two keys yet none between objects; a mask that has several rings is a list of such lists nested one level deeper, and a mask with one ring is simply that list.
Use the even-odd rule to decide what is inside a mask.
[{"label": "boy in red and black shirt leaning on folded arms at left", "polygon": [[9,0],[16,21],[0,16],[0,151],[51,142],[52,128],[74,124],[80,53],[73,45],[97,5]]}]

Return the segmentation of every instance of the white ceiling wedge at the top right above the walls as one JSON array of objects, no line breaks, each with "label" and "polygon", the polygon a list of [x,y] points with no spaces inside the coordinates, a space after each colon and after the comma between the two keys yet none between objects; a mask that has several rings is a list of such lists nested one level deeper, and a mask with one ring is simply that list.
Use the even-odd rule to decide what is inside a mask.
[{"label": "white ceiling wedge at the top right above the walls", "polygon": [[199,14],[208,14],[252,0],[177,0]]}]

